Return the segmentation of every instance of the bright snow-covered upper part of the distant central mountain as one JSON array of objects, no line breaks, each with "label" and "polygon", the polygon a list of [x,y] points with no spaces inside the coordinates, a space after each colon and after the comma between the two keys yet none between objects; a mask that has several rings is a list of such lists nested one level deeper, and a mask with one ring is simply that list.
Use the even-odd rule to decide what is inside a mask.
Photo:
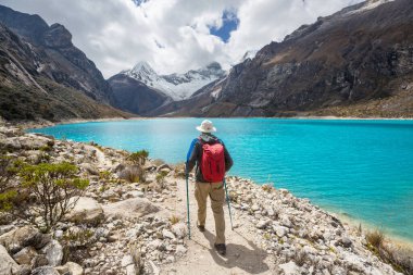
[{"label": "bright snow-covered upper part of the distant central mountain", "polygon": [[190,70],[185,74],[158,75],[147,63],[139,62],[132,70],[122,71],[121,74],[135,78],[157,89],[173,100],[189,98],[198,89],[226,75],[217,62],[213,62],[199,70]]}]

